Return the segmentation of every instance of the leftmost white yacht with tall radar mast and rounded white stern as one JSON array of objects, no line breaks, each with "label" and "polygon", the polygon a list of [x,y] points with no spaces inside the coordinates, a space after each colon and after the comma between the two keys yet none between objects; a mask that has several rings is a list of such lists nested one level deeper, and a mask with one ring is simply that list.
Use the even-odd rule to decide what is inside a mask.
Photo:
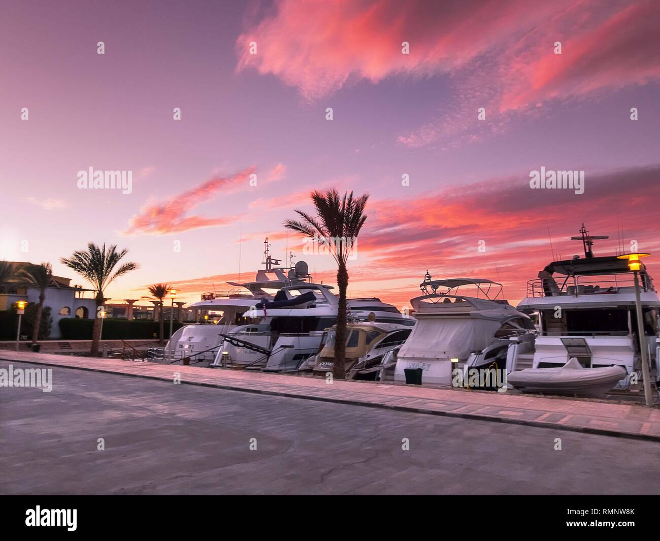
[{"label": "leftmost white yacht with tall radar mast and rounded white stern", "polygon": [[203,293],[201,301],[189,306],[197,310],[197,323],[185,325],[172,335],[165,347],[166,357],[214,361],[224,340],[220,335],[244,325],[245,312],[264,300],[275,299],[282,287],[304,284],[311,279],[305,262],[299,261],[291,268],[279,267],[281,260],[271,256],[268,238],[264,244],[265,267],[257,271],[255,279],[227,282],[230,286],[227,289]]}]

